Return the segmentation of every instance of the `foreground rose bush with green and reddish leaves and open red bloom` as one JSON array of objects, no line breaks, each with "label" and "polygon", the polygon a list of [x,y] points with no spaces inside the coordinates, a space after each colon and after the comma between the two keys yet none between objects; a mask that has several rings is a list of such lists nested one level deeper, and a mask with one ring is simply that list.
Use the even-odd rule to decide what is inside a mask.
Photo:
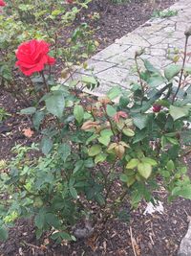
[{"label": "foreground rose bush with green and reddish leaves and open red bloom", "polygon": [[[190,198],[182,162],[190,151],[190,68],[185,66],[189,36],[187,31],[182,65],[170,65],[161,73],[137,52],[138,83],[128,91],[115,87],[92,105],[82,104],[77,88],[47,75],[45,69],[55,65],[56,56],[51,56],[45,38],[18,45],[14,72],[31,80],[40,77],[35,84],[41,93],[36,97],[33,92],[32,105],[20,112],[32,120],[40,140],[29,147],[16,145],[15,157],[2,163],[2,239],[14,221],[26,217],[34,221],[37,238],[46,234],[57,243],[86,239],[112,218],[129,221],[131,209],[142,198],[153,200],[161,185],[169,199]],[[87,83],[96,86],[94,78]],[[125,199],[131,204],[128,209],[121,207]]]}]

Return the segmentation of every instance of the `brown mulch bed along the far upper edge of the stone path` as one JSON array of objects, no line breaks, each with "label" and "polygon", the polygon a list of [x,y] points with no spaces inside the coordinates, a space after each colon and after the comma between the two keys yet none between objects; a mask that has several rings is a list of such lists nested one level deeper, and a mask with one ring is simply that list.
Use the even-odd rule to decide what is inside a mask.
[{"label": "brown mulch bed along the far upper edge of the stone path", "polygon": [[[125,2],[125,1],[124,1]],[[111,5],[111,0],[95,0],[91,6],[92,13],[98,12],[100,19],[94,21],[98,50],[115,42],[151,18],[155,10],[164,10],[176,0],[131,0],[123,4]]]}]

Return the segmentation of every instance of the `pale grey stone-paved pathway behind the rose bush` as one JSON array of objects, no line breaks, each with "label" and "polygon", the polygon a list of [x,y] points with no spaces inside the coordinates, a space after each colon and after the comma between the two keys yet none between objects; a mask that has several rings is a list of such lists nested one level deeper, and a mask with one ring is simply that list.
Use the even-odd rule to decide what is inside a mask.
[{"label": "pale grey stone-paved pathway behind the rose bush", "polygon": [[134,56],[141,48],[145,49],[142,58],[147,58],[159,69],[170,64],[173,56],[183,50],[184,31],[191,26],[191,0],[180,0],[170,10],[178,11],[178,15],[151,19],[117,39],[88,60],[93,72],[80,70],[77,76],[96,75],[100,86],[93,93],[103,95],[114,85],[128,88],[132,81],[137,81]]}]

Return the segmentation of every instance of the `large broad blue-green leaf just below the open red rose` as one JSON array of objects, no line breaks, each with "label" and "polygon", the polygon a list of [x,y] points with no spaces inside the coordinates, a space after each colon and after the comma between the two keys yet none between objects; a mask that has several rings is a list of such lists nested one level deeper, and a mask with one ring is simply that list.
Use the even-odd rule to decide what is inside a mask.
[{"label": "large broad blue-green leaf just below the open red rose", "polygon": [[63,92],[53,91],[53,94],[50,94],[50,96],[46,98],[45,104],[47,110],[51,114],[53,114],[57,118],[61,118],[65,107],[65,99]]}]

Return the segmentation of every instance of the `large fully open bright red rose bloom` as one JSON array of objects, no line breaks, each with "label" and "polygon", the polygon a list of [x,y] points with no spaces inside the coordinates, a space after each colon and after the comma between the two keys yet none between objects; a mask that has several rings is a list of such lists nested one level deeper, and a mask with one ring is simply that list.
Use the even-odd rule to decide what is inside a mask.
[{"label": "large fully open bright red rose bloom", "polygon": [[34,72],[44,69],[46,64],[53,65],[55,59],[48,56],[49,44],[43,40],[33,39],[19,45],[16,51],[15,65],[26,75],[31,76]]}]

